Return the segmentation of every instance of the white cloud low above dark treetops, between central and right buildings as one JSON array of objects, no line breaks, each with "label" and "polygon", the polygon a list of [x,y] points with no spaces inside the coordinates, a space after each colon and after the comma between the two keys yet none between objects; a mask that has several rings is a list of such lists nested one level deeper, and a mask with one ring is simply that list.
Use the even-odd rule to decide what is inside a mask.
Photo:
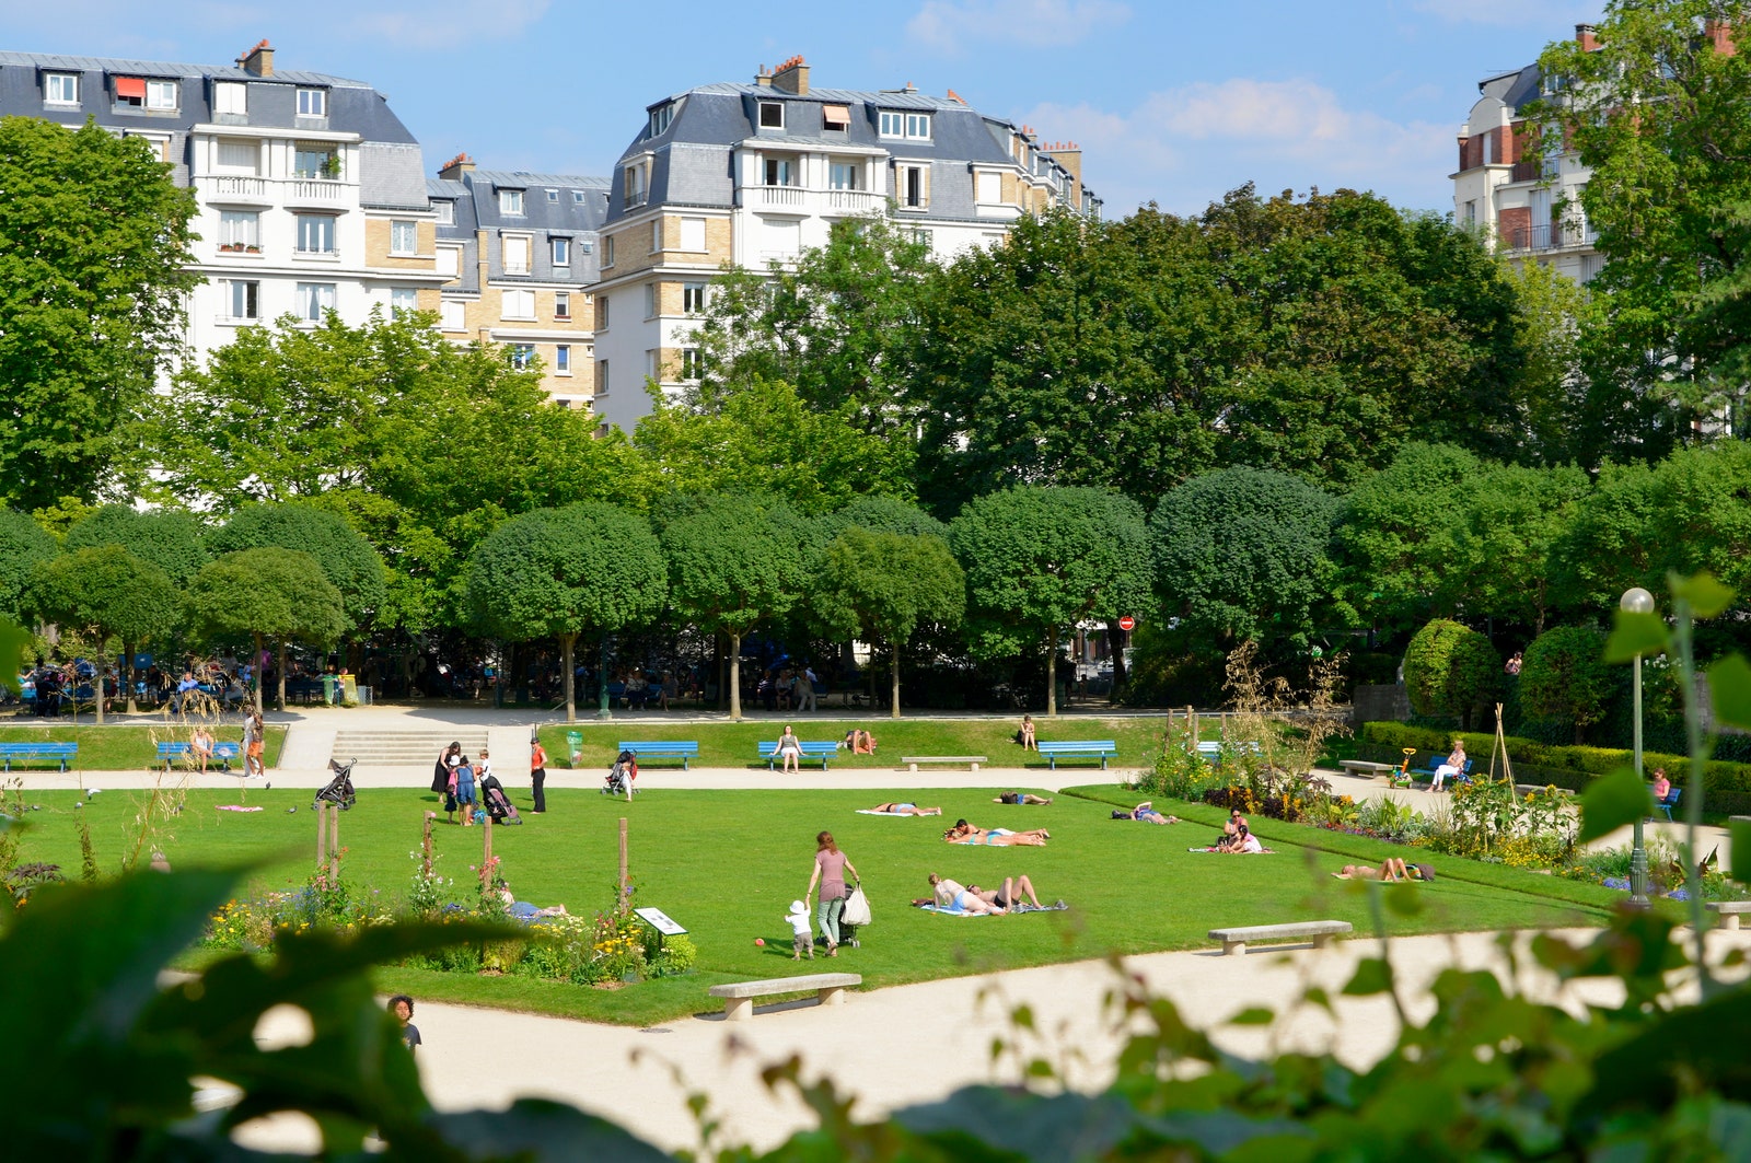
[{"label": "white cloud low above dark treetops, between central and right buildings", "polygon": [[1082,172],[1114,217],[1142,203],[1196,214],[1245,182],[1259,193],[1373,189],[1397,205],[1452,201],[1453,126],[1348,109],[1311,81],[1234,77],[1150,93],[1129,112],[1038,105],[1021,117],[1082,145]]}]

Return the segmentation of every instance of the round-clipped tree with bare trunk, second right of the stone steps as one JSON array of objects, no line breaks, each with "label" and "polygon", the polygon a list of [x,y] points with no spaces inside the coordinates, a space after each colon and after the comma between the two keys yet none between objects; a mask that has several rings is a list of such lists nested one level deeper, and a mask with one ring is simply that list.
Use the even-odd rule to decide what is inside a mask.
[{"label": "round-clipped tree with bare trunk, second right of the stone steps", "polygon": [[693,497],[664,525],[676,611],[730,639],[730,718],[742,716],[742,638],[795,606],[809,534],[788,503],[741,492]]}]

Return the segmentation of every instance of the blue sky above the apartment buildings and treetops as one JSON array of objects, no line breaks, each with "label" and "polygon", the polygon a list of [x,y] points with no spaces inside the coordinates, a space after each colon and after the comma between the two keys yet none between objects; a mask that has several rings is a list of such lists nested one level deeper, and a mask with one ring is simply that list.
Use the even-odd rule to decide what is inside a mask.
[{"label": "blue sky above the apartment buildings and treetops", "polygon": [[1119,217],[1264,193],[1373,189],[1452,208],[1453,137],[1481,77],[1518,68],[1595,2],[890,0],[0,0],[0,47],[228,63],[266,37],[280,68],[369,81],[436,170],[606,175],[644,105],[804,54],[812,82],[953,88],[1075,140]]}]

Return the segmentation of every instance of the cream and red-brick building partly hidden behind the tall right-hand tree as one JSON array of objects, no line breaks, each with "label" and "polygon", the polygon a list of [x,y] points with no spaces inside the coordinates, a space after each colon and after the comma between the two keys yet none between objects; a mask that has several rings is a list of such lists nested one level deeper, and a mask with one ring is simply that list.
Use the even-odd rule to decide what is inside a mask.
[{"label": "cream and red-brick building partly hidden behind the tall right-hand tree", "polygon": [[[1574,37],[1588,51],[1599,47],[1592,25],[1576,25]],[[1592,282],[1604,268],[1581,212],[1592,172],[1562,142],[1539,144],[1520,112],[1543,95],[1543,81],[1539,67],[1527,65],[1478,82],[1478,102],[1459,130],[1453,221],[1483,231],[1513,261]]]}]

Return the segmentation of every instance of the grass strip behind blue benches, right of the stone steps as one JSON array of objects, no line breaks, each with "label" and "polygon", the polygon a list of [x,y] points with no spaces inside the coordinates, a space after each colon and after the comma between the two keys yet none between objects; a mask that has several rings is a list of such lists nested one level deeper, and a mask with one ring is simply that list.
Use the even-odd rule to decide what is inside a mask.
[{"label": "grass strip behind blue benches, right of the stone steps", "polygon": [[[888,767],[900,764],[902,755],[984,755],[996,767],[1038,767],[1045,771],[1045,760],[1035,751],[1024,751],[1016,743],[1021,716],[1014,718],[974,718],[974,720],[912,720],[912,718],[812,718],[798,715],[790,720],[760,720],[742,723],[676,723],[665,725],[651,720],[576,723],[573,727],[543,727],[541,744],[555,767],[567,767],[571,748],[566,743],[567,730],[583,736],[583,755],[578,767],[597,767],[606,771],[615,762],[615,744],[622,739],[671,741],[692,739],[699,743],[702,767],[749,767],[765,769],[765,760],[758,757],[762,739],[777,739],[790,722],[797,737],[804,741],[839,743],[853,727],[861,727],[876,736],[876,755],[853,755],[839,751],[828,764],[832,767]],[[1149,718],[1038,718],[1035,720],[1038,739],[1112,739],[1119,748],[1119,758],[1108,760],[1114,767],[1145,767],[1154,762],[1161,750],[1161,736],[1166,730],[1166,716]],[[1215,720],[1210,720],[1215,737]],[[651,760],[662,765],[672,760]],[[1061,765],[1087,765],[1100,771],[1100,762],[1059,760]],[[678,764],[676,764],[678,765]]]}]

